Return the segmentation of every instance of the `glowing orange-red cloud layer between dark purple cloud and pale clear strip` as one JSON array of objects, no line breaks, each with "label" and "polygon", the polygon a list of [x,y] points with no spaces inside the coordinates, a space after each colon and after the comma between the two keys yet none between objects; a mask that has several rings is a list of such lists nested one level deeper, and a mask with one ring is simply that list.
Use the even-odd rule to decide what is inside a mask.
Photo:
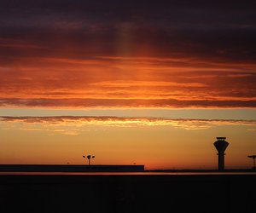
[{"label": "glowing orange-red cloud layer between dark purple cloud and pale clear strip", "polygon": [[255,107],[256,73],[211,66],[189,58],[24,58],[0,66],[0,107]]}]

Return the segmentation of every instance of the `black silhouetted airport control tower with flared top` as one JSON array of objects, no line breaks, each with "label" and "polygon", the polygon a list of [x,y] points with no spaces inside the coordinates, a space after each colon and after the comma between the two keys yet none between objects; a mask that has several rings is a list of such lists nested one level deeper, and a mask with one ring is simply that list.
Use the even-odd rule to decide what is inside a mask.
[{"label": "black silhouetted airport control tower with flared top", "polygon": [[224,155],[225,150],[229,146],[226,137],[217,137],[217,141],[213,143],[218,151],[218,170],[224,170]]}]

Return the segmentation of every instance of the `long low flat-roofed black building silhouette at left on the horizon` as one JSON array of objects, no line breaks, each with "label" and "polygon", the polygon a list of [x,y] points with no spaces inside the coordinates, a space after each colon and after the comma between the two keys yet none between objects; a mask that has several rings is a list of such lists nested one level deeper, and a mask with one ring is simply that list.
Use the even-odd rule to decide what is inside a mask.
[{"label": "long low flat-roofed black building silhouette at left on the horizon", "polygon": [[0,164],[0,171],[48,171],[48,172],[132,172],[144,171],[144,165],[42,165]]}]

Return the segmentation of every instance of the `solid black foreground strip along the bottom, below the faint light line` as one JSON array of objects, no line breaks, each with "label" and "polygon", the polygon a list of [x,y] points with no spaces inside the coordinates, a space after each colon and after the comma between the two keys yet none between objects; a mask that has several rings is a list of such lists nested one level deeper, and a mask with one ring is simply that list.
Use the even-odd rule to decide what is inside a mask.
[{"label": "solid black foreground strip along the bottom, below the faint light line", "polygon": [[255,180],[253,175],[0,176],[0,212],[256,212]]}]

